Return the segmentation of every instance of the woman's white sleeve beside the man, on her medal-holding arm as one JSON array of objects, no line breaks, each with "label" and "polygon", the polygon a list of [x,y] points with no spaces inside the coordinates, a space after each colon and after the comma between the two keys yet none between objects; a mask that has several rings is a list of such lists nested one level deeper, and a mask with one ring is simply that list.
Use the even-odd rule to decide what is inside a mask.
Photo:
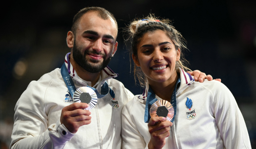
[{"label": "woman's white sleeve beside the man, on her medal-holding arm", "polygon": [[[135,96],[134,98],[137,98]],[[144,141],[143,136],[139,133],[133,116],[130,112],[135,101],[133,98],[132,101],[128,102],[122,110],[122,148],[123,149],[143,149],[147,148],[147,144]]]}]

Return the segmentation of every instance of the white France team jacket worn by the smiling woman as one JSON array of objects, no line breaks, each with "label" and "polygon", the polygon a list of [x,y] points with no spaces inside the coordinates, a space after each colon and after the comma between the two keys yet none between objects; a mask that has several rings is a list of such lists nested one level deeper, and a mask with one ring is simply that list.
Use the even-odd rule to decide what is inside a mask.
[{"label": "white France team jacket worn by the smiling woman", "polygon": [[[194,82],[182,69],[180,77],[177,112],[163,149],[251,149],[244,118],[229,89],[218,81]],[[123,108],[125,149],[148,148],[150,133],[144,122],[148,87],[147,83],[143,94],[136,95]],[[193,102],[190,110],[186,107],[187,97]]]}]

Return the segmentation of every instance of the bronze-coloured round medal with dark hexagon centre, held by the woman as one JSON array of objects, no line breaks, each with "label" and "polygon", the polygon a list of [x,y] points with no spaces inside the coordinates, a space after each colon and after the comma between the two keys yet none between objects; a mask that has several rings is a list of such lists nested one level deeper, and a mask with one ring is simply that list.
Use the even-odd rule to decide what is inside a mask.
[{"label": "bronze-coloured round medal with dark hexagon centre, held by the woman", "polygon": [[150,108],[150,116],[166,117],[165,121],[171,121],[174,116],[174,109],[170,102],[166,100],[157,100]]}]

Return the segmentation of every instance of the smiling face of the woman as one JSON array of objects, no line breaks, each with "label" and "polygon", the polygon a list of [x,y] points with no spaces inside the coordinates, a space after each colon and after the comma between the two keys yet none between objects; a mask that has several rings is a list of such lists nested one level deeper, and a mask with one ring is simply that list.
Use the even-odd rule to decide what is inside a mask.
[{"label": "smiling face of the woman", "polygon": [[145,33],[137,49],[138,55],[133,56],[133,60],[149,82],[165,82],[176,77],[175,64],[180,58],[180,50],[176,50],[164,31]]}]

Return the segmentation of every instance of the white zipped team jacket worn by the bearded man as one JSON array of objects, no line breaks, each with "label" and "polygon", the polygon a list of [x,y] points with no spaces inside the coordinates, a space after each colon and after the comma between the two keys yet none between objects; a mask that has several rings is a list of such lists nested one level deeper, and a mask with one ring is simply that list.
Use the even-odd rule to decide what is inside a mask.
[{"label": "white zipped team jacket worn by the bearded man", "polygon": [[[76,89],[91,86],[91,82],[82,80],[69,63],[65,64],[74,81]],[[20,96],[14,115],[11,149],[120,149],[121,148],[121,110],[133,98],[133,94],[124,85],[113,79],[118,75],[106,67],[94,86],[101,93],[106,81],[115,93],[115,101],[108,93],[98,99],[91,109],[91,124],[83,125],[75,134],[60,124],[61,110],[74,101],[57,68],[43,75],[38,81],[30,82]]]}]

